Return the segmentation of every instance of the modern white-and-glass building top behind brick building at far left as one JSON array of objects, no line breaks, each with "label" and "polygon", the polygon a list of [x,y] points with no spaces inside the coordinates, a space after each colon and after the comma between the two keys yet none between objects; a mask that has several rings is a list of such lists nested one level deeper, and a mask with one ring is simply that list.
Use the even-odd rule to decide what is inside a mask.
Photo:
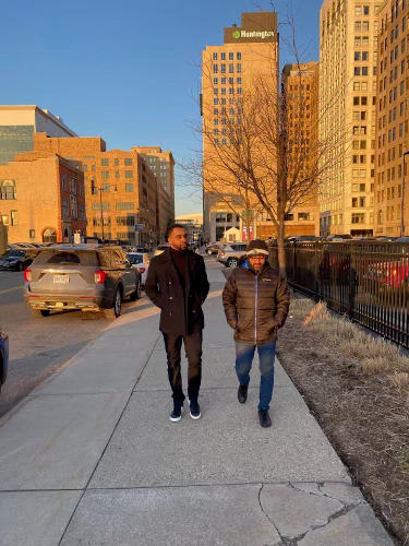
[{"label": "modern white-and-glass building top behind brick building at far left", "polygon": [[33,150],[33,134],[76,136],[59,116],[38,106],[0,106],[0,165]]}]

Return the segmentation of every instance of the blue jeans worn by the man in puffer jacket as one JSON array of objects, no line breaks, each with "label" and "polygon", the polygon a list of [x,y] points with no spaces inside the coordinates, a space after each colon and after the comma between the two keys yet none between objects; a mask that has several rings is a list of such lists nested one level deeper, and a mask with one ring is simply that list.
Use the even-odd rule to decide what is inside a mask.
[{"label": "blue jeans worn by the man in puffer jacket", "polygon": [[236,373],[239,383],[248,387],[255,347],[258,351],[261,373],[258,410],[268,410],[273,397],[276,342],[261,343],[258,345],[236,342]]}]

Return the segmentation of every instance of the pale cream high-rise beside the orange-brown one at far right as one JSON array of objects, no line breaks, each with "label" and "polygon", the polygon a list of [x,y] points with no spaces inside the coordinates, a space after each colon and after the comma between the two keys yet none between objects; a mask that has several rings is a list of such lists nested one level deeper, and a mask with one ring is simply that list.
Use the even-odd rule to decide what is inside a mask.
[{"label": "pale cream high-rise beside the orange-brown one at far right", "polygon": [[325,0],[320,16],[321,234],[369,236],[374,225],[380,0]]}]

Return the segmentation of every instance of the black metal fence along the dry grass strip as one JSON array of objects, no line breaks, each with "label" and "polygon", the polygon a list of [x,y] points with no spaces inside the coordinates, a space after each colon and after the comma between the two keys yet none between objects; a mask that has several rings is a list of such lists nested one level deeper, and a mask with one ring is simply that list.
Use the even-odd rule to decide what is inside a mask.
[{"label": "black metal fence along the dry grass strip", "polygon": [[[278,266],[278,249],[269,261]],[[387,241],[286,245],[293,288],[409,348],[409,244]]]}]

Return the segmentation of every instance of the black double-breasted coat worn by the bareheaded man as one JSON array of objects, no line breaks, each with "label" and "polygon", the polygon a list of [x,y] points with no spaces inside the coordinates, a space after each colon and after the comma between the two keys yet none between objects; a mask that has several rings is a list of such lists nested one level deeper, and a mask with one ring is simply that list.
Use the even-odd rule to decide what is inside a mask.
[{"label": "black double-breasted coat worn by the bareheaded man", "polygon": [[203,258],[188,250],[187,270],[184,297],[170,248],[151,260],[145,292],[161,310],[159,330],[164,333],[187,335],[204,328],[202,305],[209,284]]}]

